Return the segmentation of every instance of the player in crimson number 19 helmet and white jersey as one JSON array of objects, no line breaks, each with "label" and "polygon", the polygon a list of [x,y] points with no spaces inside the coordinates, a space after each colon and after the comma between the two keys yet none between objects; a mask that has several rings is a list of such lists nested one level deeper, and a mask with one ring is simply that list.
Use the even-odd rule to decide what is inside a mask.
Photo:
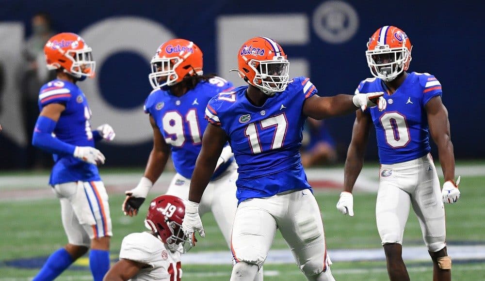
[{"label": "player in crimson number 19 helmet and white jersey", "polygon": [[180,256],[187,242],[181,228],[184,215],[182,199],[172,195],[153,199],[145,220],[150,232],[132,233],[123,239],[120,260],[104,280],[180,281]]}]

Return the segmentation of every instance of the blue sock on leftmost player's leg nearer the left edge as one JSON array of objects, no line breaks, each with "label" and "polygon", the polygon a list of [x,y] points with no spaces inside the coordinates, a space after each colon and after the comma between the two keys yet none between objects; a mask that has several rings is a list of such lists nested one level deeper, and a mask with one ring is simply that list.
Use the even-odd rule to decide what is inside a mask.
[{"label": "blue sock on leftmost player's leg nearer the left edge", "polygon": [[51,281],[58,277],[74,261],[69,253],[61,248],[53,252],[32,281]]}]

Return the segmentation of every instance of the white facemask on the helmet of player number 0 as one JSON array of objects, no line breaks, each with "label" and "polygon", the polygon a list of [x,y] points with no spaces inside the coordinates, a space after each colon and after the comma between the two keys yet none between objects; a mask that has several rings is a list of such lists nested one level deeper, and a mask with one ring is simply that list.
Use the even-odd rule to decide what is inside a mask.
[{"label": "white facemask on the helmet of player number 0", "polygon": [[367,64],[374,77],[392,81],[409,67],[411,51],[404,46],[390,48],[389,45],[377,45],[366,51]]}]

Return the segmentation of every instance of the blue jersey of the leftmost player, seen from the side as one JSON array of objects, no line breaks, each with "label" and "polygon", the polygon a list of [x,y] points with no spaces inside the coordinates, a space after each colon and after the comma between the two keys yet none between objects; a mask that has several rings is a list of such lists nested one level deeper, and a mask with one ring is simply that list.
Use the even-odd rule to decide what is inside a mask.
[{"label": "blue jersey of the leftmost player, seen from the side", "polygon": [[[40,110],[51,103],[65,105],[65,110],[61,113],[53,132],[55,137],[72,145],[94,147],[89,124],[91,110],[81,89],[69,81],[52,80],[40,88]],[[72,155],[53,156],[54,167],[50,174],[50,185],[101,180],[96,165],[81,161]]]}]

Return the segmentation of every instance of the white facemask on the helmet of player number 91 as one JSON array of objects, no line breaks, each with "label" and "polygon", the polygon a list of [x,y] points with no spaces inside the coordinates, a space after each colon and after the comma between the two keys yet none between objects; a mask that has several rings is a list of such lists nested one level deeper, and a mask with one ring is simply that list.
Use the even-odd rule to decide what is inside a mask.
[{"label": "white facemask on the helmet of player number 91", "polygon": [[177,84],[178,74],[175,69],[182,63],[182,59],[160,58],[154,56],[151,60],[152,73],[148,75],[150,84],[153,89],[159,89],[163,86],[173,86]]}]

